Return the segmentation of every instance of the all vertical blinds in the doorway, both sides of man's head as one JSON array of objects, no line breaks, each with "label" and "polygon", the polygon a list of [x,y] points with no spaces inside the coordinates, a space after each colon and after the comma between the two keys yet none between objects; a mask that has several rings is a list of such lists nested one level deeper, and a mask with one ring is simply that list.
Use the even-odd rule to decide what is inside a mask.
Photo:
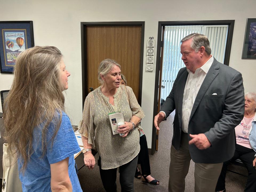
[{"label": "all vertical blinds in the doorway, both sides of man's head", "polygon": [[165,99],[169,95],[179,70],[185,67],[181,60],[181,39],[191,33],[203,33],[202,31],[206,31],[204,33],[209,39],[211,54],[217,61],[223,63],[227,26],[165,26],[162,65],[162,86],[165,88],[161,89],[161,98]]}]

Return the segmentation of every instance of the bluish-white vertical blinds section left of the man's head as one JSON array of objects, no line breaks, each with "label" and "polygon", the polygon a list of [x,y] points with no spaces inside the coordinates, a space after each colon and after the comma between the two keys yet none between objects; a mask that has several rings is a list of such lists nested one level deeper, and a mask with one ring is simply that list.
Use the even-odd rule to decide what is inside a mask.
[{"label": "bluish-white vertical blinds section left of the man's head", "polygon": [[164,53],[163,53],[163,67],[162,67],[162,86],[161,97],[166,98],[174,80],[182,67],[185,67],[181,60],[180,46],[181,39],[191,33],[201,33],[202,26],[166,26],[164,36]]}]

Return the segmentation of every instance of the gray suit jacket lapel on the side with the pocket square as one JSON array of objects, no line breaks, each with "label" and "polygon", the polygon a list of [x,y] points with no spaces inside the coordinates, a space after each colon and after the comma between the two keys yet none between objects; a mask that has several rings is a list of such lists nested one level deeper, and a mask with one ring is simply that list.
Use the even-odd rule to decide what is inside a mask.
[{"label": "gray suit jacket lapel on the side with the pocket square", "polygon": [[215,77],[219,74],[219,63],[217,62],[217,60],[214,58],[213,60],[213,64],[211,65],[208,73],[206,74],[205,79],[203,80],[203,83],[197,93],[197,97],[195,98],[195,102],[190,114],[190,119],[192,118],[192,116],[195,113],[195,110],[197,110],[197,107],[199,105],[199,103],[201,102],[203,96],[205,95],[207,89],[210,87],[211,83],[213,82],[213,80],[215,79]]}]

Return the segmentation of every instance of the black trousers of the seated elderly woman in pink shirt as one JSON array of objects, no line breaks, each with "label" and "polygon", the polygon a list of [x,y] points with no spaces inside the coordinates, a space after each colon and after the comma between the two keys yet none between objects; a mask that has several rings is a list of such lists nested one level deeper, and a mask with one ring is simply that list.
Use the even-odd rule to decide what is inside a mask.
[{"label": "black trousers of the seated elderly woman in pink shirt", "polygon": [[225,178],[227,173],[227,166],[229,165],[231,160],[241,159],[248,170],[248,178],[245,187],[245,192],[255,192],[256,191],[256,169],[253,167],[255,151],[253,149],[249,149],[242,145],[236,145],[234,156],[229,160],[223,163],[221,174],[219,175],[219,179],[215,188],[215,191],[221,191],[225,189]]}]

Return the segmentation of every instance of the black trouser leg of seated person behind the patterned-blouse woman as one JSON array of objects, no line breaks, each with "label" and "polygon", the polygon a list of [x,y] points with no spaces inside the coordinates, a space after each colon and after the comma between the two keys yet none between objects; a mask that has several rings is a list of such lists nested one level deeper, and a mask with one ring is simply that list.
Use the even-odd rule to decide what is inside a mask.
[{"label": "black trouser leg of seated person behind the patterned-blouse woman", "polygon": [[142,135],[139,138],[139,145],[141,146],[141,150],[138,155],[138,164],[141,164],[141,174],[142,175],[150,175],[150,164],[149,164],[149,151],[147,148],[147,139],[146,135]]}]

